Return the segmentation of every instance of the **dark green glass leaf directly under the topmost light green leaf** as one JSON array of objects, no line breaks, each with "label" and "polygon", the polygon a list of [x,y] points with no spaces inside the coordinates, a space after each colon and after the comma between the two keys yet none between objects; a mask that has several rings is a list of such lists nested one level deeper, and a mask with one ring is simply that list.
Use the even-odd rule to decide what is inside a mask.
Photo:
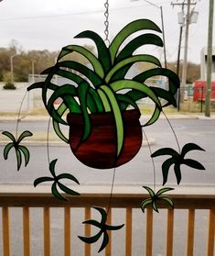
[{"label": "dark green glass leaf directly under the topmost light green leaf", "polygon": [[163,46],[163,41],[155,34],[145,33],[144,35],[140,35],[125,45],[124,49],[119,52],[116,62],[132,56],[134,50],[137,50],[139,47],[144,46],[145,44]]}]

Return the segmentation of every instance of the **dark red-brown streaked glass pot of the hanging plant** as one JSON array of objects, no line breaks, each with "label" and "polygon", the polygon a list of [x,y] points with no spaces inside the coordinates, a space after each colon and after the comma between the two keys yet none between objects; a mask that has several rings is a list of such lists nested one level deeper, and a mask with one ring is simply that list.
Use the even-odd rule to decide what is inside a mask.
[{"label": "dark red-brown streaked glass pot of the hanging plant", "polygon": [[84,120],[81,114],[68,114],[70,148],[85,165],[97,169],[110,169],[131,161],[142,145],[142,128],[137,109],[123,112],[124,145],[117,156],[115,121],[112,112],[91,114],[91,134],[82,141]]}]

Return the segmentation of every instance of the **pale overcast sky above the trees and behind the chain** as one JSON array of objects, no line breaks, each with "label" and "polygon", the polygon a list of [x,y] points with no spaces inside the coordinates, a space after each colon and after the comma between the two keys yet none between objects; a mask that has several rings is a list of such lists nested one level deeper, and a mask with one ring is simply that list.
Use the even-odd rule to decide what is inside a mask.
[{"label": "pale overcast sky above the trees and behind the chain", "polygon": [[[0,47],[16,40],[23,50],[60,50],[69,44],[92,44],[87,39],[74,39],[84,30],[94,30],[104,39],[104,3],[106,0],[2,0],[0,1]],[[153,3],[150,5],[148,2]],[[109,0],[109,39],[138,18],[149,18],[161,28],[163,8],[167,61],[177,60],[182,0]],[[196,0],[198,22],[189,26],[188,61],[200,62],[200,50],[208,43],[209,0]],[[156,5],[156,6],[155,6]],[[193,6],[192,6],[193,8]],[[215,22],[215,18],[214,18]],[[215,28],[215,25],[214,25]],[[215,29],[214,29],[215,30]],[[215,44],[215,32],[213,33]],[[184,36],[180,59],[183,60]],[[155,50],[155,49],[153,49]],[[163,50],[155,50],[164,59]]]}]

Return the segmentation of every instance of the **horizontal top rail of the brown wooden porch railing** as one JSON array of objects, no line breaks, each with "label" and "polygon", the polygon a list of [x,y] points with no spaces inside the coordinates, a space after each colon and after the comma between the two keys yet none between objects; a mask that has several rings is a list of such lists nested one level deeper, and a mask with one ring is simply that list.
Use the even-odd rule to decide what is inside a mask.
[{"label": "horizontal top rail of the brown wooden porch railing", "polygon": [[[108,206],[110,186],[76,186],[74,190],[81,193],[79,196],[67,195],[68,201],[55,198],[50,193],[49,186],[34,188],[29,185],[1,185],[0,206]],[[159,189],[159,188],[157,188]],[[215,208],[215,187],[178,187],[177,191],[169,194],[175,201],[175,208]],[[115,186],[113,189],[112,206],[137,208],[149,195],[141,186]],[[160,205],[166,208],[167,205]]]}]

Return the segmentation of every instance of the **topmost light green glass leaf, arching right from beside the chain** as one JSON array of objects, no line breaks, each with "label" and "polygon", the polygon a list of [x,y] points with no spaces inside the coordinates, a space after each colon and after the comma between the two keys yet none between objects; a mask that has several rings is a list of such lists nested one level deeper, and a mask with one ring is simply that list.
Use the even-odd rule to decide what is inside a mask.
[{"label": "topmost light green glass leaf, arching right from beside the chain", "polygon": [[129,23],[116,35],[109,47],[112,63],[114,62],[116,54],[124,40],[131,36],[134,32],[143,29],[151,29],[161,32],[160,28],[158,28],[156,24],[149,19],[138,19]]}]

